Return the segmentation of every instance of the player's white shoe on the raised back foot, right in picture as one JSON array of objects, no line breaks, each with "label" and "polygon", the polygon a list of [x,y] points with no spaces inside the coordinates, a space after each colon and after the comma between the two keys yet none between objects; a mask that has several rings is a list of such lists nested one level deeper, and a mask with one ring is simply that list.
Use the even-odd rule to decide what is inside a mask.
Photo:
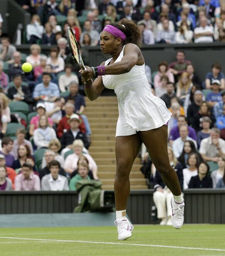
[{"label": "player's white shoe on the raised back foot, right in picture", "polygon": [[175,229],[180,229],[184,223],[184,201],[176,203],[174,198],[171,198],[172,216],[171,222]]}]

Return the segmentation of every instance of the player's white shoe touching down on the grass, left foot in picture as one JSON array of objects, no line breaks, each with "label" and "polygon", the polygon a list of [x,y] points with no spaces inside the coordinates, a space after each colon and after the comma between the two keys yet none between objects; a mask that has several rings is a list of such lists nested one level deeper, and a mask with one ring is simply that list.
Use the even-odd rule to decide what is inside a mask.
[{"label": "player's white shoe touching down on the grass, left foot in picture", "polygon": [[126,217],[122,220],[115,220],[114,223],[118,229],[118,240],[126,240],[131,237],[134,226]]}]

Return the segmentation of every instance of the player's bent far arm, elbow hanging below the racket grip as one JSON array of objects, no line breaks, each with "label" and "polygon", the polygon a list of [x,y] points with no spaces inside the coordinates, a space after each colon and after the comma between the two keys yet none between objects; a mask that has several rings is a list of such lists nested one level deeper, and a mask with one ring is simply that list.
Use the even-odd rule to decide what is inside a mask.
[{"label": "player's bent far arm, elbow hanging below the racket grip", "polygon": [[[101,65],[105,65],[105,62],[102,62]],[[87,97],[91,100],[94,101],[97,99],[97,97],[100,96],[102,90],[105,88],[102,82],[102,76],[99,75],[93,83],[89,83],[82,77],[82,82],[86,82],[87,86],[84,86],[84,91]],[[89,86],[91,85],[91,86]]]}]

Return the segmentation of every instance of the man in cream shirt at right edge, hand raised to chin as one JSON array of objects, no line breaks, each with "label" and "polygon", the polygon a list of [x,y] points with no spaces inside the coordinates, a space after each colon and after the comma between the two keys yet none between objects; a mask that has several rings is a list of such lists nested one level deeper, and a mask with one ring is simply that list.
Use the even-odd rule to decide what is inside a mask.
[{"label": "man in cream shirt at right edge, hand raised to chin", "polygon": [[199,153],[205,161],[218,162],[218,157],[225,156],[225,141],[220,138],[220,130],[212,128],[210,137],[201,141]]}]

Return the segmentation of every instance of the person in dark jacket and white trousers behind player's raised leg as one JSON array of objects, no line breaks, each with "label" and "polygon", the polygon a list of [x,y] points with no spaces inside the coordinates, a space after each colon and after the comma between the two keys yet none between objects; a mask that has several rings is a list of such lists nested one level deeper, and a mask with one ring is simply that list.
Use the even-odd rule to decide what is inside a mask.
[{"label": "person in dark jacket and white trousers behind player's raised leg", "polygon": [[[182,165],[177,162],[176,157],[174,156],[172,148],[168,147],[168,155],[170,165],[174,167],[174,170],[177,173],[177,177],[179,179],[179,183],[181,185],[181,190],[183,189],[183,173],[182,173]],[[154,178],[154,189],[155,192],[153,193],[153,201],[157,208],[157,217],[161,219],[160,225],[168,225],[171,226],[171,199],[172,193],[167,186],[165,186],[164,181],[162,180],[161,174],[156,171],[155,178]]]}]

